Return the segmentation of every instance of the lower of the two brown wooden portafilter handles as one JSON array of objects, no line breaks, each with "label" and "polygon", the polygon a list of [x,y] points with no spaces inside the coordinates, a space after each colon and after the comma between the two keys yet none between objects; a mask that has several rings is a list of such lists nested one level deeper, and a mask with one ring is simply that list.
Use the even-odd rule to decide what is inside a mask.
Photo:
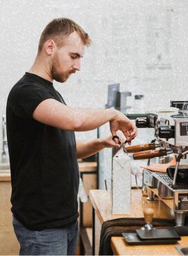
[{"label": "lower of the two brown wooden portafilter handles", "polygon": [[166,149],[156,149],[156,150],[148,150],[148,151],[134,153],[133,159],[134,160],[150,159],[150,158],[158,157],[158,156],[167,156],[167,150]]}]

